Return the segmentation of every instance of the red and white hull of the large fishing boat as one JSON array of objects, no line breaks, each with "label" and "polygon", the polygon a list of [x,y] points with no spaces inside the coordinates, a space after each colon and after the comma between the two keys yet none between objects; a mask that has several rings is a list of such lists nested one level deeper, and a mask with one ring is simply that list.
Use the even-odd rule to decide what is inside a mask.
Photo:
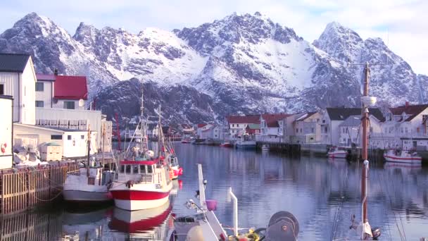
[{"label": "red and white hull of the large fishing boat", "polygon": [[168,202],[170,191],[111,190],[115,206],[128,211],[153,209]]}]

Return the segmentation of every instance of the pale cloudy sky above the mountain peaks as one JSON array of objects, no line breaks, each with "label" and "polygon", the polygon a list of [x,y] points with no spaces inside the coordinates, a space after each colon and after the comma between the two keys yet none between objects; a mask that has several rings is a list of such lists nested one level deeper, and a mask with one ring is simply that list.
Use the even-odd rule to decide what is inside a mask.
[{"label": "pale cloudy sky above the mountain peaks", "polygon": [[146,27],[196,27],[234,12],[256,11],[294,28],[308,42],[332,21],[351,27],[363,39],[381,37],[415,73],[428,75],[427,0],[1,0],[0,32],[31,12],[50,18],[73,35],[80,22],[138,33]]}]

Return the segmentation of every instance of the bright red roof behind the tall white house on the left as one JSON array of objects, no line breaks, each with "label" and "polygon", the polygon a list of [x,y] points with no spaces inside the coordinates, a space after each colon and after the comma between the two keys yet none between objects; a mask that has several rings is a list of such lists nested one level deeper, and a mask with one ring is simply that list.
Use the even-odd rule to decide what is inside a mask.
[{"label": "bright red roof behind the tall white house on the left", "polygon": [[57,75],[53,97],[56,99],[88,99],[86,77]]}]

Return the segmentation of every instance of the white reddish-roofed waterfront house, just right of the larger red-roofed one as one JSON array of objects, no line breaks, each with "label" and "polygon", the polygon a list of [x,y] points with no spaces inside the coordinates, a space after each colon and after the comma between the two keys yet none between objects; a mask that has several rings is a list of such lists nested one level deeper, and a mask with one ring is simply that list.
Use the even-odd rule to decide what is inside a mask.
[{"label": "white reddish-roofed waterfront house, just right of the larger red-roofed one", "polygon": [[264,142],[284,142],[284,119],[286,113],[265,113],[260,115],[260,139]]}]

